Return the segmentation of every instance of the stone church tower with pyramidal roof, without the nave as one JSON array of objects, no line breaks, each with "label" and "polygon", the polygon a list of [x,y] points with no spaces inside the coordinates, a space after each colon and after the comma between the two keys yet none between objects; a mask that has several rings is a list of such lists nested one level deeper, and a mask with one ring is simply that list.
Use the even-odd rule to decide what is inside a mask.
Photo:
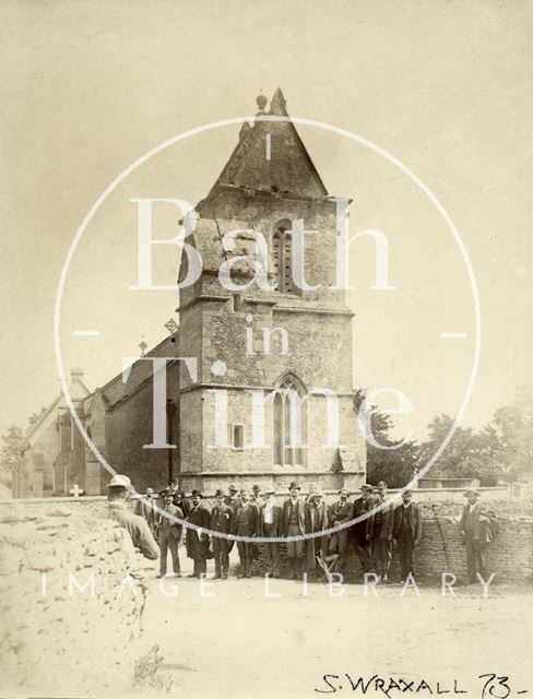
[{"label": "stone church tower with pyramidal roof, without the nave", "polygon": [[[271,114],[286,116],[281,93]],[[265,161],[269,135],[272,157]],[[257,121],[240,135],[239,144],[208,198],[198,205],[191,242],[200,252],[200,280],[180,297],[180,352],[199,360],[192,382],[180,369],[181,475],[186,488],[212,493],[229,481],[282,489],[297,478],[304,487],[321,481],[324,487],[356,487],[365,477],[366,449],[352,407],[352,311],[344,293],[333,288],[336,263],[336,206],[316,171],[289,121]],[[306,230],[304,276],[312,289],[265,291],[252,281],[256,242],[260,232],[270,251],[269,283],[276,281],[274,235],[280,222],[303,220]],[[233,250],[223,237],[238,229]],[[186,256],[185,256],[186,257]],[[240,259],[238,259],[240,258]],[[235,294],[217,276],[224,262],[234,262]],[[188,265],[182,264],[180,280]],[[251,282],[251,284],[250,284]],[[237,307],[236,307],[237,306]],[[271,333],[270,352],[263,331]],[[286,332],[288,351],[283,353]],[[251,334],[250,334],[251,333]],[[250,342],[251,337],[251,342]],[[223,374],[214,370],[223,363]],[[276,461],[273,441],[275,391],[285,377],[294,378],[305,399],[306,448],[291,465]],[[253,434],[252,390],[264,391],[264,443],[250,447]],[[334,392],[340,424],[339,447],[327,445],[327,399]],[[242,425],[244,449],[214,448],[216,392],[227,396],[227,429]],[[185,410],[187,407],[187,410]],[[187,415],[187,418],[186,418]],[[192,419],[190,417],[192,417]],[[218,420],[220,422],[220,420]]]}]

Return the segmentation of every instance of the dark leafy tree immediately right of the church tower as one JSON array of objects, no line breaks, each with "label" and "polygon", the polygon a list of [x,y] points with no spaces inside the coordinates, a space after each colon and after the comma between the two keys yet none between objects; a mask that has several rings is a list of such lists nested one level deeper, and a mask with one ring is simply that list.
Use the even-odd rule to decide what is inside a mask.
[{"label": "dark leafy tree immediately right of the church tower", "polygon": [[[354,410],[363,419],[364,416],[360,414],[360,408],[365,399],[365,390],[357,389],[354,391]],[[381,446],[376,447],[367,442],[368,481],[370,483],[386,481],[389,487],[401,488],[413,478],[418,458],[418,447],[414,441],[402,443],[401,440],[391,439],[392,417],[389,413],[379,411],[376,405],[371,406],[371,435],[374,441]]]}]

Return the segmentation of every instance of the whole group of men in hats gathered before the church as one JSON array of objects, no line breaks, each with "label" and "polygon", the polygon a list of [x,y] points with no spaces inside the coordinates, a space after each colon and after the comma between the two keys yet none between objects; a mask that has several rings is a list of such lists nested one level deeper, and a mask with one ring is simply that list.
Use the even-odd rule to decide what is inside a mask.
[{"label": "whole group of men in hats gathered before the church", "polygon": [[[127,489],[129,485],[127,476],[115,476],[108,484],[109,499],[120,486]],[[238,577],[250,578],[252,560],[258,556],[257,538],[264,550],[266,572],[273,578],[281,571],[281,543],[275,541],[280,538],[286,540],[291,579],[300,579],[304,572],[312,578],[321,572],[342,571],[348,548],[353,547],[360,561],[362,576],[372,572],[378,580],[387,582],[394,544],[401,581],[415,574],[415,549],[422,540],[422,512],[413,502],[411,490],[403,491],[402,502],[396,506],[387,500],[387,483],[383,481],[377,486],[362,485],[360,495],[354,501],[350,501],[348,490],[341,488],[336,501],[328,507],[316,484],[309,484],[306,497],[301,496],[297,482],[291,483],[288,489],[289,497],[277,505],[273,488],[253,486],[249,490],[232,485],[227,494],[216,490],[215,503],[209,510],[200,490],[192,490],[189,500],[185,493],[179,491],[177,482],[173,482],[159,494],[163,503],[158,505],[161,511],[157,511],[153,507],[156,496],[149,488],[137,502],[140,517],[131,514],[145,525],[140,536],[137,522],[133,528],[137,542],[134,538],[133,543],[144,555],[149,550],[149,558],[156,558],[155,537],[158,540],[159,577],[167,574],[168,550],[174,574],[181,576],[178,549],[185,540],[187,555],[193,560],[191,577],[205,576],[206,562],[213,558],[214,577],[226,579],[229,553],[236,542],[240,559]],[[479,508],[478,493],[469,489],[465,495],[467,502],[460,531],[466,546],[469,581],[473,582],[476,572],[485,577],[486,545],[494,537],[495,528]],[[119,519],[116,508],[110,511],[111,517]],[[122,508],[120,518],[125,517]],[[185,528],[183,521],[188,524]],[[208,531],[215,534],[210,535]]]}]

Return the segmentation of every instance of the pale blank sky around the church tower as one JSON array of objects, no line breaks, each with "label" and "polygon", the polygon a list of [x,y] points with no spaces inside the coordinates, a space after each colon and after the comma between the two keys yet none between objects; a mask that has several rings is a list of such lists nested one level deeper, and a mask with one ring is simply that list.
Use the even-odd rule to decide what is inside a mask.
[{"label": "pale blank sky around the church tower", "polygon": [[[54,308],[72,239],[117,175],[200,125],[253,115],[281,86],[294,117],[358,134],[408,167],[449,212],[478,286],[481,354],[464,423],[483,426],[531,382],[532,8],[520,1],[15,2],[0,8],[3,401],[24,426],[60,390]],[[351,248],[354,387],[394,388],[426,434],[455,415],[475,348],[464,257],[416,183],[360,142],[298,131],[329,192],[353,199],[351,232],[390,246],[391,292],[374,291],[368,242]],[[132,292],[135,197],[196,203],[238,126],[180,142],[140,167],[98,210],[62,301],[66,372],[90,389],[166,333],[178,295]],[[174,235],[162,214],[161,237]],[[176,279],[162,246],[154,273]],[[73,335],[98,329],[100,336]],[[461,333],[446,339],[442,333]],[[382,393],[378,403],[394,408]]]}]

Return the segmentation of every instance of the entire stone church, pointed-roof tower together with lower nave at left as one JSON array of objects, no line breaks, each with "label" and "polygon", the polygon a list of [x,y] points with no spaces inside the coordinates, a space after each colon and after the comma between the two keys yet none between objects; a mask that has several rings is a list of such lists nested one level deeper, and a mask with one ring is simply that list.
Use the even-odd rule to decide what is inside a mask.
[{"label": "entire stone church, pointed-roof tower together with lower nave at left", "polygon": [[[226,166],[197,205],[187,240],[201,254],[202,272],[180,289],[178,330],[127,377],[81,401],[79,414],[95,446],[140,490],[162,488],[171,476],[183,489],[208,495],[229,483],[283,491],[293,479],[304,488],[312,481],[328,490],[353,489],[365,478],[365,440],[352,404],[353,312],[344,292],[327,288],[335,285],[335,201],[287,118],[282,92],[269,107],[258,97],[258,117],[286,120],[245,122]],[[300,288],[293,273],[298,220],[313,232],[305,236],[309,288]],[[253,279],[254,232],[268,244],[268,289]],[[241,291],[221,283],[224,263]],[[146,360],[153,357],[167,357],[171,449],[145,448],[153,441],[153,363]],[[197,371],[191,375],[179,357],[194,358]],[[336,443],[328,436],[331,407]],[[105,491],[109,475],[91,450],[84,454],[68,478],[64,469],[51,469],[49,495],[68,494],[74,484],[88,495]]]}]

